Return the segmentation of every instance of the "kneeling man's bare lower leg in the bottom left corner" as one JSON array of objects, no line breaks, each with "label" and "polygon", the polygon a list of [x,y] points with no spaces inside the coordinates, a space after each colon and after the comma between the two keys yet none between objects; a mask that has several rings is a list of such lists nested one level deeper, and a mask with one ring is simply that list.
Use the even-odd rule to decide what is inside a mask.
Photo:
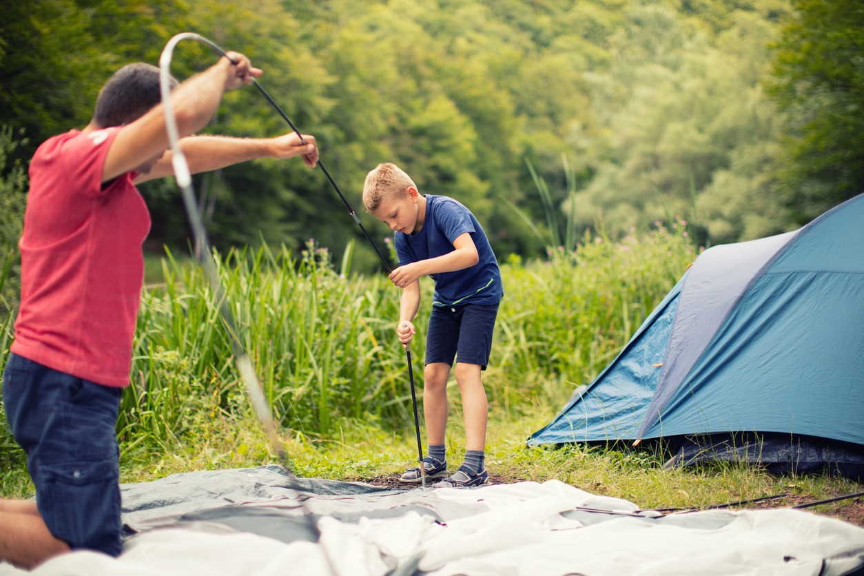
[{"label": "kneeling man's bare lower leg in the bottom left corner", "polygon": [[31,569],[68,551],[67,543],[48,531],[35,502],[0,500],[0,560]]}]

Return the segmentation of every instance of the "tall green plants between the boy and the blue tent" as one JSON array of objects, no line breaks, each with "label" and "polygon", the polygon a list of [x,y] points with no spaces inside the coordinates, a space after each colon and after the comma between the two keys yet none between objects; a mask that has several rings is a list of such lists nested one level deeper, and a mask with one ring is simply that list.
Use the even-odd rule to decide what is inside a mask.
[{"label": "tall green plants between the boy and the blue tent", "polygon": [[575,250],[503,266],[491,361],[508,394],[502,402],[558,404],[614,358],[696,258],[684,225],[676,227],[620,242],[587,234]]}]

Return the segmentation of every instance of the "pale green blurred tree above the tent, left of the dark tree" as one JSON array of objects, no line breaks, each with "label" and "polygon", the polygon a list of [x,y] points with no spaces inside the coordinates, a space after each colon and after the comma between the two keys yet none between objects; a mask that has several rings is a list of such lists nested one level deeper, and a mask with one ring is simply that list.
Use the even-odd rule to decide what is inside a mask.
[{"label": "pale green blurred tree above the tent, left of the dark tree", "polygon": [[592,77],[607,136],[594,141],[594,179],[575,196],[582,226],[600,215],[624,234],[677,216],[702,242],[789,229],[766,177],[777,166],[778,115],[760,85],[776,26],[753,10],[721,21],[717,32],[668,8],[626,12],[614,65]]}]

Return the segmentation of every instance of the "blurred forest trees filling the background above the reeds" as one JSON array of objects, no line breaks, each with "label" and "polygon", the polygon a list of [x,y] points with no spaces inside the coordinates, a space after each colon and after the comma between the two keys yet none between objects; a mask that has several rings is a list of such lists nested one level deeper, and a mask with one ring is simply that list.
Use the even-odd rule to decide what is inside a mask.
[{"label": "blurred forest trees filling the background above the reeds", "polygon": [[[316,136],[355,210],[365,174],[394,161],[421,192],[469,206],[501,258],[542,253],[550,203],[577,231],[686,218],[716,244],[791,230],[864,182],[864,7],[852,0],[31,0],[5,16],[0,124],[22,136],[0,177],[85,125],[111,72],[156,64],[193,31],[264,69],[261,85]],[[215,58],[182,42],[172,73]],[[208,129],[288,130],[253,88],[226,95]],[[226,168],[195,189],[222,248],[314,237],[338,254],[359,235],[301,162]],[[143,193],[150,248],[185,249],[174,182]],[[376,240],[390,235],[359,217]],[[365,242],[356,258],[377,266]]]}]

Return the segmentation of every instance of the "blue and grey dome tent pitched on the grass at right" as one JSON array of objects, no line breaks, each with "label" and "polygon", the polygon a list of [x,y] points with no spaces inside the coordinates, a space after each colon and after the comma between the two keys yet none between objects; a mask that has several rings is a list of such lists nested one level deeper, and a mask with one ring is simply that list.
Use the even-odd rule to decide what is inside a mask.
[{"label": "blue and grey dome tent pitched on the grass at right", "polygon": [[864,194],[705,250],[528,444],[649,441],[670,465],[864,478]]}]

